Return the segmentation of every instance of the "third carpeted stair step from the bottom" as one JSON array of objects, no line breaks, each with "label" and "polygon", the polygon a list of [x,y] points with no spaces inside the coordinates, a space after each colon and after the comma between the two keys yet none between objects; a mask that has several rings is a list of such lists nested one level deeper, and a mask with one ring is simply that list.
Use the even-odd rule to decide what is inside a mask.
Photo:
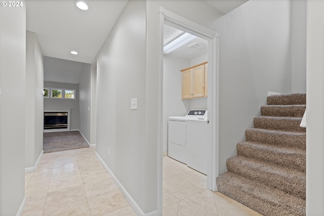
[{"label": "third carpeted stair step from the bottom", "polygon": [[245,156],[251,159],[257,159],[269,162],[282,167],[290,167],[302,172],[306,172],[306,155],[305,154],[285,154],[265,149],[247,146],[244,143],[237,143],[237,155]]}]

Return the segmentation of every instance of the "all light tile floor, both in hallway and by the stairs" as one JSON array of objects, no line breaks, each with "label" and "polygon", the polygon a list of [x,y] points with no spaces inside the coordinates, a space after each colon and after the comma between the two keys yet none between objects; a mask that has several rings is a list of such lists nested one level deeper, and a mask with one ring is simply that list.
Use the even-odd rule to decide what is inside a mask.
[{"label": "all light tile floor, both in hallway and by the stairs", "polygon": [[[25,174],[23,215],[136,215],[96,158],[95,148],[43,154]],[[163,215],[260,215],[206,188],[206,175],[163,158]]]}]

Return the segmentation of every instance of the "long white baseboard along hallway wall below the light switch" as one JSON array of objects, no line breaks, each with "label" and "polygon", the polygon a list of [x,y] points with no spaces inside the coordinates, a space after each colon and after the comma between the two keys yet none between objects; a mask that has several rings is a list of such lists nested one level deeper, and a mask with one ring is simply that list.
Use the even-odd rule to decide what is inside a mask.
[{"label": "long white baseboard along hallway wall below the light switch", "polygon": [[127,201],[130,203],[130,205],[132,206],[132,208],[134,209],[135,213],[137,215],[146,215],[146,216],[150,216],[150,215],[157,215],[157,210],[151,211],[149,213],[144,213],[142,211],[142,209],[140,208],[140,206],[138,206],[138,204],[135,202],[135,200],[132,198],[132,196],[127,192],[127,190],[124,188],[124,186],[119,182],[118,178],[113,174],[113,172],[109,169],[109,167],[107,166],[107,164],[102,160],[102,158],[98,155],[97,152],[95,152],[98,160],[100,161],[100,163],[102,164],[102,166],[105,168],[105,170],[108,172],[108,174],[110,175],[110,177],[112,178],[112,180],[114,181],[114,183],[117,185],[117,187],[119,188],[119,190],[121,191],[121,193],[123,193],[123,195],[125,196],[125,198],[127,199]]}]

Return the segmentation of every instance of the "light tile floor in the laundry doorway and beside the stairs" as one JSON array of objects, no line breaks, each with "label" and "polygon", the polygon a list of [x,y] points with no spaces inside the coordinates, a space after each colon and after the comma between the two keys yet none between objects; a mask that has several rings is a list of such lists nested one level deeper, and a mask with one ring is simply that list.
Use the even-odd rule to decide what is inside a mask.
[{"label": "light tile floor in the laundry doorway and beside the stairs", "polygon": [[163,157],[163,215],[261,215],[219,192],[208,190],[206,180],[206,175]]}]

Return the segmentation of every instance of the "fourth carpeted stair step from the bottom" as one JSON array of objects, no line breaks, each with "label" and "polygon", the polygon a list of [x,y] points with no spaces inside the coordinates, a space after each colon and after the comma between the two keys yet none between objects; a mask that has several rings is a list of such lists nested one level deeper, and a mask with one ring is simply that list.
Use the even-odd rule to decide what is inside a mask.
[{"label": "fourth carpeted stair step from the bottom", "polygon": [[247,141],[262,142],[269,145],[291,147],[306,150],[306,134],[266,133],[256,130],[246,130]]}]

